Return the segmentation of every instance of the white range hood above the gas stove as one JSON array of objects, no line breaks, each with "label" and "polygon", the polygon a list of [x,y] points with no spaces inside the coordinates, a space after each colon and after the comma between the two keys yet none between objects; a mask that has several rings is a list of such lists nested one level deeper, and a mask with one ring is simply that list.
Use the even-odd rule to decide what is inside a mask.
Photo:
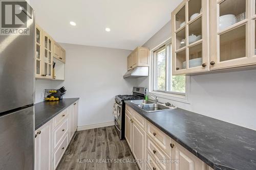
[{"label": "white range hood above the gas stove", "polygon": [[125,73],[123,78],[148,77],[148,67],[135,67]]}]

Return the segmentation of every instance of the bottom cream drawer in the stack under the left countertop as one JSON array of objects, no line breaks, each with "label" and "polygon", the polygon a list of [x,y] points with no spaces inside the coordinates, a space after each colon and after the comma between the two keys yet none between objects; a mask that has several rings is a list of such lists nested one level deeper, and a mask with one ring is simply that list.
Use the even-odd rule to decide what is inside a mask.
[{"label": "bottom cream drawer in the stack under the left countertop", "polygon": [[56,169],[56,167],[58,166],[59,161],[61,160],[63,154],[65,153],[66,149],[68,148],[68,144],[69,144],[69,137],[68,137],[68,133],[67,133],[67,135],[62,140],[59,147],[56,149],[56,151],[53,154],[54,169]]}]

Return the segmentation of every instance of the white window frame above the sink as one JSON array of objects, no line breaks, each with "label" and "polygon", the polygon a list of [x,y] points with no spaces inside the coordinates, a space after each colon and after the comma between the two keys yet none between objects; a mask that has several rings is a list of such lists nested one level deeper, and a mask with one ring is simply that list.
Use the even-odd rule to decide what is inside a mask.
[{"label": "white window frame above the sink", "polygon": [[[169,47],[168,47],[169,46]],[[161,48],[165,47],[165,53],[166,56],[169,55],[171,57],[165,57],[166,60],[166,73],[165,73],[165,90],[156,90],[156,53],[157,51],[160,51]],[[168,54],[169,53],[169,54]],[[169,61],[168,61],[169,60]],[[174,92],[174,91],[168,91],[172,87],[172,38],[168,38],[161,44],[157,45],[155,48],[153,48],[150,51],[150,75],[148,79],[148,90],[149,93],[156,94],[159,98],[163,99],[169,99],[174,101],[179,101],[183,103],[189,103],[188,102],[188,93],[190,89],[190,77],[186,76],[185,80],[185,93],[181,92]]]}]

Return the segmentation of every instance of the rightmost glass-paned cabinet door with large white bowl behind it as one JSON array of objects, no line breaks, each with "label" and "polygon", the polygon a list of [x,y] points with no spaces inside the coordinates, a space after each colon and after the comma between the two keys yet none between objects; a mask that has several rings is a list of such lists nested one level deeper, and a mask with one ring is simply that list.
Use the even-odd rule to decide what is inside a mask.
[{"label": "rightmost glass-paned cabinet door with large white bowl behind it", "polygon": [[255,0],[211,0],[210,7],[210,69],[255,65]]}]

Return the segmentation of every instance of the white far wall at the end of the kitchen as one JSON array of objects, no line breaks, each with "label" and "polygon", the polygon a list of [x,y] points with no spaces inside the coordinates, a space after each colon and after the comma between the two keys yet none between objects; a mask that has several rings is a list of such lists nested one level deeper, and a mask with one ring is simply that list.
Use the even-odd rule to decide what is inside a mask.
[{"label": "white far wall at the end of the kitchen", "polygon": [[66,50],[64,82],[36,81],[36,102],[40,91],[65,86],[65,98],[80,98],[78,126],[113,122],[112,108],[117,94],[131,94],[137,79],[123,79],[128,50],[60,43]]}]

